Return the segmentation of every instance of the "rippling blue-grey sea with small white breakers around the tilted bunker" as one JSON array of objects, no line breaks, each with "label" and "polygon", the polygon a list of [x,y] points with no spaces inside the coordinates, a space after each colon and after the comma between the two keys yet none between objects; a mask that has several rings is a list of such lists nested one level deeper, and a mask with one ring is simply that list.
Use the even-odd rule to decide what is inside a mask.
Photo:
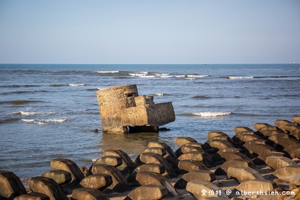
[{"label": "rippling blue-grey sea with small white breakers around the tilted bunker", "polygon": [[[136,84],[155,103],[173,102],[176,121],[159,133],[102,130],[96,91]],[[25,183],[56,158],[90,167],[106,149],[132,159],[150,141],[209,131],[234,136],[236,126],[274,125],[300,115],[300,64],[0,64],[0,170]]]}]

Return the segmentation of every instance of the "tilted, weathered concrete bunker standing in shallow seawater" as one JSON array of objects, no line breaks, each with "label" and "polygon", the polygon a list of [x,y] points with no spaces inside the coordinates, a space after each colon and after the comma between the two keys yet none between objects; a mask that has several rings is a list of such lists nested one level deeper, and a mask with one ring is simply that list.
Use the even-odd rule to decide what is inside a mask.
[{"label": "tilted, weathered concrete bunker standing in shallow seawater", "polygon": [[175,121],[172,102],[154,103],[153,96],[139,96],[137,85],[118,85],[97,91],[102,130],[125,134],[158,132],[158,126]]}]

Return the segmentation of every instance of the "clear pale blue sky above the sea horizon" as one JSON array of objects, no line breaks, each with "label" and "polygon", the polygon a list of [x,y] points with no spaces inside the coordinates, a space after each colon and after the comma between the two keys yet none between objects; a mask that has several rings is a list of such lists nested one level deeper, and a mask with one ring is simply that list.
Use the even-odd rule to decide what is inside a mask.
[{"label": "clear pale blue sky above the sea horizon", "polygon": [[0,63],[290,62],[299,0],[0,0]]}]

